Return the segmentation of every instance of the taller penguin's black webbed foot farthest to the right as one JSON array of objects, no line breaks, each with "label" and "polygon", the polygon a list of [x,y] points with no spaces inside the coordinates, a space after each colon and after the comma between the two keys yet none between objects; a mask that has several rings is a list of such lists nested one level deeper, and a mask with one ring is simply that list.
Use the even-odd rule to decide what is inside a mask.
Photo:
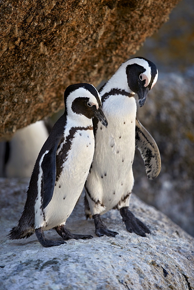
[{"label": "taller penguin's black webbed foot farthest to the right", "polygon": [[120,213],[123,217],[123,222],[125,222],[127,231],[130,233],[134,232],[141,237],[146,237],[146,233],[151,234],[148,227],[134,216],[128,206],[122,207],[120,209]]}]

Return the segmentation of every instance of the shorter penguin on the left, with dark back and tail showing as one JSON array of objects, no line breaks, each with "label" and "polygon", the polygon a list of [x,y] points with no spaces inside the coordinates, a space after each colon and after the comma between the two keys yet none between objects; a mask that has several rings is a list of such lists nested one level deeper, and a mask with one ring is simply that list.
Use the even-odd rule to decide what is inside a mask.
[{"label": "shorter penguin on the left, with dark back and tail showing", "polygon": [[[107,126],[98,91],[91,84],[67,87],[65,112],[44,143],[30,179],[27,200],[11,240],[28,238],[34,232],[44,247],[66,243],[68,239],[92,238],[71,234],[65,221],[78,201],[94,155],[91,118]],[[44,231],[54,228],[63,240],[47,240]]]}]

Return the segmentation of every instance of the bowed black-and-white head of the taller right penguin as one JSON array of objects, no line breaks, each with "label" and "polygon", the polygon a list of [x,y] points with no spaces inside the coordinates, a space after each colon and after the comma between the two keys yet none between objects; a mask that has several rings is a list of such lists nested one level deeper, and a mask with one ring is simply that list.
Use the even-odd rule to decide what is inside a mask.
[{"label": "bowed black-and-white head of the taller right penguin", "polygon": [[142,107],[146,102],[149,90],[157,81],[157,67],[143,57],[134,57],[123,65],[126,67],[128,86],[132,92],[138,95],[139,106]]}]

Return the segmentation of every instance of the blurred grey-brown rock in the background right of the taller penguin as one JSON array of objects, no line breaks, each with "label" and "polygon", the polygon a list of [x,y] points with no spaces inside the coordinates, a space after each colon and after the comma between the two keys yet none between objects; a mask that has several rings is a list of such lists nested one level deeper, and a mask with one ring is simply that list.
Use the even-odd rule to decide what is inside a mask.
[{"label": "blurred grey-brown rock in the background right of the taller penguin", "polygon": [[[134,193],[194,235],[194,67],[161,73],[137,117],[155,138],[162,169],[148,180],[140,154],[134,160]],[[137,152],[138,153],[138,152]]]}]

